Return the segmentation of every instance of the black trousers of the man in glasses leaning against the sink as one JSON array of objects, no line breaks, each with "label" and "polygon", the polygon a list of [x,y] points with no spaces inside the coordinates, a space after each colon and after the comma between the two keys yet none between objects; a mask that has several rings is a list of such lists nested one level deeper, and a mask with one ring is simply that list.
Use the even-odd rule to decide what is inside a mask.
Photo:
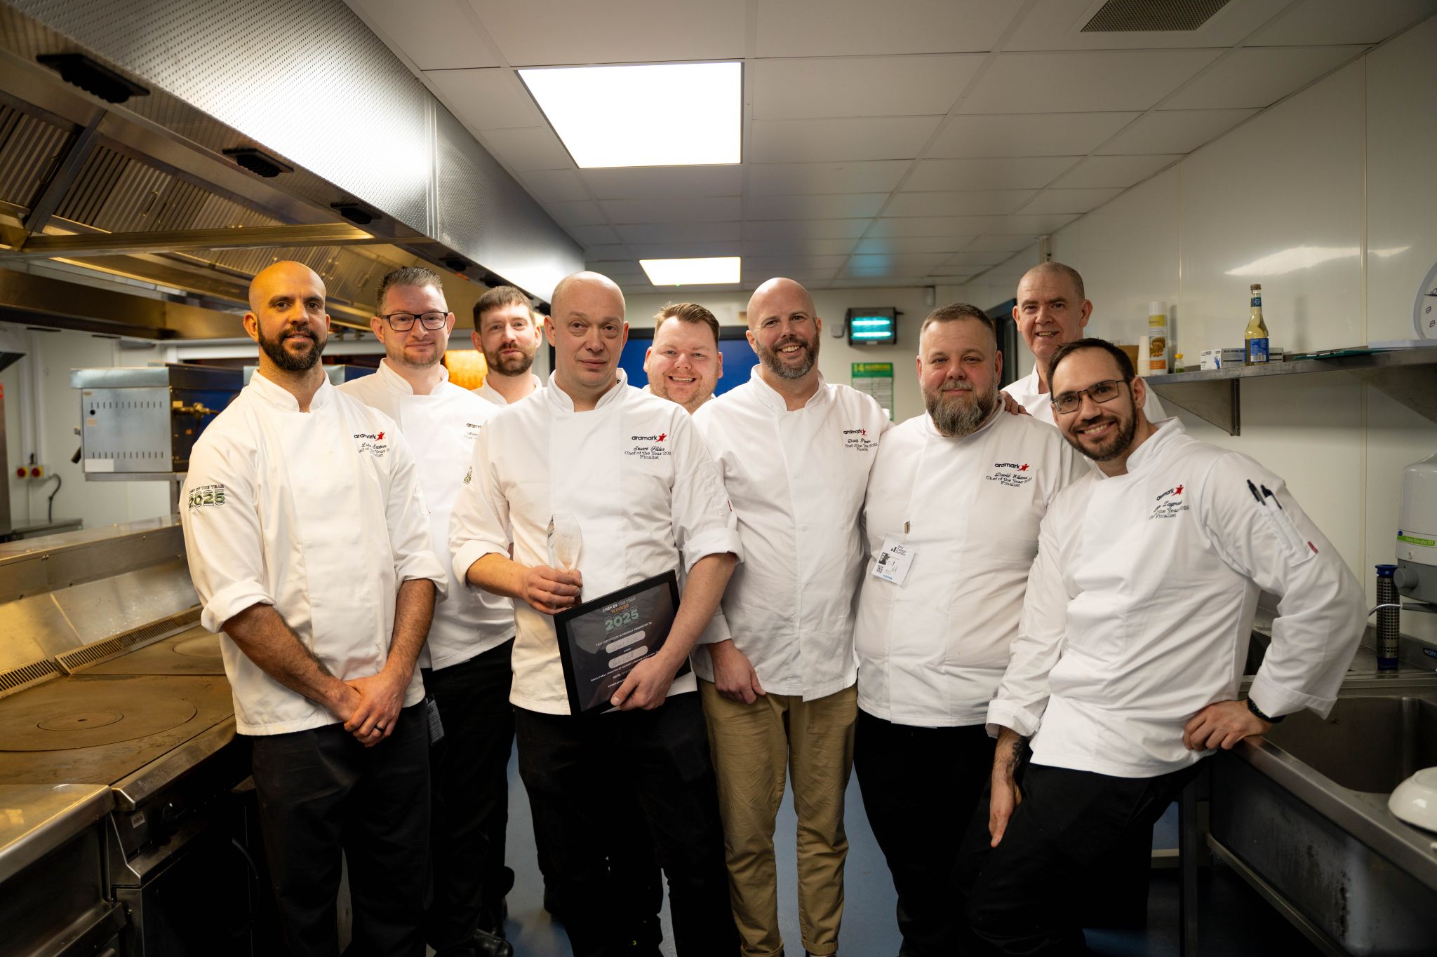
[{"label": "black trousers of the man in glasses leaning against the sink", "polygon": [[1094,874],[1111,872],[1135,832],[1151,834],[1197,770],[1191,765],[1160,778],[1112,778],[1026,765],[1019,772],[1023,801],[992,849],[984,789],[954,868],[971,931],[958,953],[1085,953],[1079,888]]}]

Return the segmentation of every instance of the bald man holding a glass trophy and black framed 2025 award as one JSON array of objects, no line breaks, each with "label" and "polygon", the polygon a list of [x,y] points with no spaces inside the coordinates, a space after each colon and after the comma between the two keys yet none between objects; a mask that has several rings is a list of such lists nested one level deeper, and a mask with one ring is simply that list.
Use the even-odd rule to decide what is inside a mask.
[{"label": "bald man holding a glass trophy and black framed 2025 award", "polygon": [[[694,676],[675,674],[737,562],[736,519],[688,412],[618,369],[619,287],[576,273],[552,300],[553,374],[484,423],[454,505],[454,572],[514,598],[519,773],[575,957],[632,953],[644,933],[634,900],[621,900],[634,890],[609,862],[638,829],[668,878],[678,956],[733,957],[703,710]],[[550,529],[569,518],[582,538],[573,571],[549,555]],[[668,571],[687,578],[667,641],[614,693],[619,710],[570,713],[553,616],[581,588],[593,600]]]}]

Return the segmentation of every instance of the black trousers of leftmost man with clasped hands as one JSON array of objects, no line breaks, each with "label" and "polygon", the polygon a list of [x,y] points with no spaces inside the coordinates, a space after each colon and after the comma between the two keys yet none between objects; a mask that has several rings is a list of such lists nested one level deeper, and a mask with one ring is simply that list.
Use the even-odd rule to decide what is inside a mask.
[{"label": "black trousers of leftmost man with clasped hands", "polygon": [[341,851],[349,864],[354,941],[346,957],[424,957],[430,743],[424,706],[365,748],[326,725],[256,735],[254,791],[264,858],[290,954],[339,953]]}]

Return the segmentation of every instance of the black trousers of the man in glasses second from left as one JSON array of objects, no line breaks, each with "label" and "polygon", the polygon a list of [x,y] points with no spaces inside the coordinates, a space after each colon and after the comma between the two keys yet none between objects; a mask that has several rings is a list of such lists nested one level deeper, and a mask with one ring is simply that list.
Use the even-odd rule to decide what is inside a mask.
[{"label": "black trousers of the man in glasses second from left", "polygon": [[503,930],[509,828],[509,755],[514,745],[509,641],[467,661],[424,671],[444,737],[430,752],[434,868],[425,937],[430,947],[461,947],[474,930]]}]

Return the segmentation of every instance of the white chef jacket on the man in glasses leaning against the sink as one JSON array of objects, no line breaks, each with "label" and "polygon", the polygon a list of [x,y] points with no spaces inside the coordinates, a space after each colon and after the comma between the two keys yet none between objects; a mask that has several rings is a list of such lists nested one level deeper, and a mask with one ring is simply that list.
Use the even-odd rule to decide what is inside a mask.
[{"label": "white chef jacket on the man in glasses leaning against the sink", "polygon": [[1163,422],[1127,475],[1094,469],[1048,511],[989,730],[1036,730],[1033,760],[1056,768],[1194,763],[1183,726],[1237,696],[1259,591],[1282,601],[1253,703],[1326,716],[1362,634],[1357,580],[1280,478]]}]

